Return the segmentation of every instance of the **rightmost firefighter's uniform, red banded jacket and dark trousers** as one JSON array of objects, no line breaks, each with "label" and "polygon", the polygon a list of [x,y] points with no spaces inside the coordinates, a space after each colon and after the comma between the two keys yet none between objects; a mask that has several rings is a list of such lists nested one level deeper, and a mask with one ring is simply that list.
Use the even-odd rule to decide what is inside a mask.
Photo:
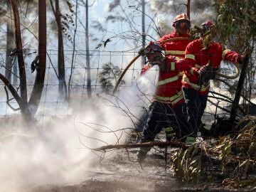
[{"label": "rightmost firefighter's uniform, red banded jacket and dark trousers", "polygon": [[183,74],[182,89],[185,99],[187,122],[190,125],[191,134],[196,134],[201,124],[201,117],[206,109],[206,102],[210,85],[198,85],[198,71],[203,65],[211,61],[213,68],[218,68],[221,60],[241,63],[240,55],[223,48],[220,43],[213,42],[209,48],[202,47],[202,39],[197,39],[188,44],[184,60],[176,60],[171,63],[172,70],[183,70],[189,66]]}]

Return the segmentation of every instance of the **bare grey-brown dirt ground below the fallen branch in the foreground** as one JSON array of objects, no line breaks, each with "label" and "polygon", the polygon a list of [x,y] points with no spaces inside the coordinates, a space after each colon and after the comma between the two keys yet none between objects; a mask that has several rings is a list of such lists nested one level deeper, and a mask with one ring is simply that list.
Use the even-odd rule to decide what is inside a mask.
[{"label": "bare grey-brown dirt ground below the fallen branch in the foreground", "polygon": [[[169,149],[169,154],[171,154]],[[135,160],[137,149],[116,151],[114,156],[101,161],[95,169],[88,171],[87,179],[73,185],[36,186],[28,192],[82,192],[82,191],[238,191],[223,188],[218,183],[191,186],[176,181],[171,167],[164,161],[164,153],[154,149],[140,166]],[[129,160],[130,159],[130,160]],[[251,191],[251,190],[239,190]]]}]

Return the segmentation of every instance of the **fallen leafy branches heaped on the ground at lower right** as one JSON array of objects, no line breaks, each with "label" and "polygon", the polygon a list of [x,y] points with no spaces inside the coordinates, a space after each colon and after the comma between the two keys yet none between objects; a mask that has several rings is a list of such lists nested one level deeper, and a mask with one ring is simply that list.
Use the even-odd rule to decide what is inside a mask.
[{"label": "fallen leafy branches heaped on the ground at lower right", "polygon": [[[172,157],[174,175],[182,181],[198,183],[213,179],[218,169],[223,186],[255,188],[256,117],[240,119],[240,132],[220,137],[215,146],[192,144]],[[218,171],[217,171],[218,172]]]}]

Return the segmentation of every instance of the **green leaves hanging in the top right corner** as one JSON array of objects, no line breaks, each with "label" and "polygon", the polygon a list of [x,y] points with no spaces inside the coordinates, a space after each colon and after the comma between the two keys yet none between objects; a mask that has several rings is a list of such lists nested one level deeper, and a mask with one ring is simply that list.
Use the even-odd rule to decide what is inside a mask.
[{"label": "green leaves hanging in the top right corner", "polygon": [[218,38],[234,50],[244,50],[256,38],[255,0],[215,0]]}]

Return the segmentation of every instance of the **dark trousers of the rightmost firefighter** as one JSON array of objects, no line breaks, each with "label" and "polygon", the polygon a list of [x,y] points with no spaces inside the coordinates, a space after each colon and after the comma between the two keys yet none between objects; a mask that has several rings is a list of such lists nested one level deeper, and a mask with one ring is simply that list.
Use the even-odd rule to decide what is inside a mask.
[{"label": "dark trousers of the rightmost firefighter", "polygon": [[185,99],[183,112],[189,124],[187,135],[196,136],[199,126],[202,124],[201,119],[206,109],[208,93],[200,95],[197,90],[189,87],[182,87],[182,92]]}]

